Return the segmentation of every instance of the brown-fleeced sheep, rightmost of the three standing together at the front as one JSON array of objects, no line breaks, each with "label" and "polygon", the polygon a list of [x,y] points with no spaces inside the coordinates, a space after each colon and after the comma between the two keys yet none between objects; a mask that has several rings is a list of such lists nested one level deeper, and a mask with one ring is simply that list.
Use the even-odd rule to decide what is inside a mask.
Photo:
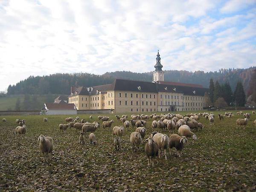
[{"label": "brown-fleeced sheep, rightmost of the three standing together at the front", "polygon": [[188,142],[185,136],[179,136],[178,134],[172,134],[170,136],[169,149],[171,154],[171,148],[175,147],[178,151],[179,157],[181,156],[181,150],[184,147],[184,144]]}]

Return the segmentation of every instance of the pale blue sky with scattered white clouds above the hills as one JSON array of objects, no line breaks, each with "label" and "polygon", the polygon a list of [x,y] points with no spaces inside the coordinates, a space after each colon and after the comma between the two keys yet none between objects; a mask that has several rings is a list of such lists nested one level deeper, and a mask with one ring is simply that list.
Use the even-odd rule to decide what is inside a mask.
[{"label": "pale blue sky with scattered white clouds above the hills", "polygon": [[256,66],[256,0],[0,0],[0,91],[53,73]]}]

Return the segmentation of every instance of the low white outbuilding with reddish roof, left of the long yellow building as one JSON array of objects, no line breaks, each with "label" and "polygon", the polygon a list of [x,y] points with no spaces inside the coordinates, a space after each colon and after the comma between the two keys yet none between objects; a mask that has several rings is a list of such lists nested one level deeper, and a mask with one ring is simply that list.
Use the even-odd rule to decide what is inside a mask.
[{"label": "low white outbuilding with reddish roof, left of the long yellow building", "polygon": [[64,101],[54,103],[44,103],[46,115],[75,115],[77,114],[76,106],[73,103]]}]

